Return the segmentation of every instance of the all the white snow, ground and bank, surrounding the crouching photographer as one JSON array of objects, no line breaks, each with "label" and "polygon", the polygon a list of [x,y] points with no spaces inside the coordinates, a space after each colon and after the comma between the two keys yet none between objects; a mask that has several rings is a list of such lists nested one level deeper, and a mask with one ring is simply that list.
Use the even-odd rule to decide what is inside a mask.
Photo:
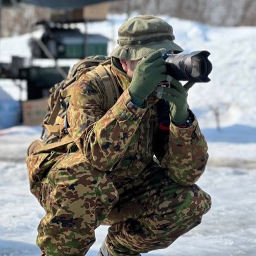
[{"label": "all the white snow, ground and bank, surrounding the crouching photographer", "polygon": [[[106,22],[88,24],[88,32],[114,38],[109,42],[111,52],[125,19],[125,15],[110,15]],[[148,255],[256,255],[256,28],[163,19],[172,24],[175,42],[185,52],[211,52],[211,82],[195,84],[188,100],[209,144],[209,164],[198,185],[212,196],[212,209],[201,225],[169,248]],[[8,61],[12,54],[29,57],[29,36],[3,38],[0,60]],[[0,256],[40,255],[36,227],[44,210],[29,192],[24,159],[41,130],[13,126],[19,118],[18,101],[25,98],[12,82],[0,80]],[[220,129],[214,111],[220,115]],[[107,229],[97,228],[97,241],[88,255],[97,255]]]}]

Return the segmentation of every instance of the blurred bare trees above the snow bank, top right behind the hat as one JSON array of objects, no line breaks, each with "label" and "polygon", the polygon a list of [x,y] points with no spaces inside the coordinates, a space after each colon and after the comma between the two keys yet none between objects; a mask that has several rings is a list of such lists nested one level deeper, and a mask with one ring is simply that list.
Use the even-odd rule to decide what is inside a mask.
[{"label": "blurred bare trees above the snow bank, top right behind the hat", "polygon": [[218,26],[255,26],[255,0],[123,0],[111,3],[114,12],[170,15]]}]

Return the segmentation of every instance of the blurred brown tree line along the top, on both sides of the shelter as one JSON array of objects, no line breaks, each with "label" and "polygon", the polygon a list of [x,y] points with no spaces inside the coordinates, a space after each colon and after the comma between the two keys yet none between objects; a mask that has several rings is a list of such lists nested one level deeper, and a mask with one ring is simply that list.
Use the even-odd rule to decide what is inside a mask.
[{"label": "blurred brown tree line along the top, on both sides of the shelter", "polygon": [[[120,0],[109,2],[110,13],[169,15],[214,26],[256,26],[256,0]],[[2,8],[1,36],[33,31],[51,10],[28,4]]]}]

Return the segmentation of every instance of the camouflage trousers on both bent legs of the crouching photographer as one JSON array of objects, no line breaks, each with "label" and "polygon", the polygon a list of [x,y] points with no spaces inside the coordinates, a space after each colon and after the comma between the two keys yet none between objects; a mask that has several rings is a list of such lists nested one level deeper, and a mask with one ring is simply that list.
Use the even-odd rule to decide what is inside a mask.
[{"label": "camouflage trousers on both bent legs of the crouching photographer", "polygon": [[180,186],[155,163],[120,182],[83,160],[63,156],[42,180],[38,200],[46,214],[36,239],[42,255],[84,255],[102,224],[110,225],[105,243],[114,256],[166,248],[211,207],[202,189]]}]

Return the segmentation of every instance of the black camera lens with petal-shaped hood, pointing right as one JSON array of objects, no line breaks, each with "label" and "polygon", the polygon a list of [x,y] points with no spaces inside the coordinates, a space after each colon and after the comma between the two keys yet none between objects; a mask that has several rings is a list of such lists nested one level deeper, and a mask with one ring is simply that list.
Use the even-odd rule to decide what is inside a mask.
[{"label": "black camera lens with petal-shaped hood, pointing right", "polygon": [[211,81],[208,76],[212,71],[209,55],[208,51],[195,51],[189,54],[167,52],[163,59],[166,61],[167,74],[173,78],[179,81],[207,83]]}]

